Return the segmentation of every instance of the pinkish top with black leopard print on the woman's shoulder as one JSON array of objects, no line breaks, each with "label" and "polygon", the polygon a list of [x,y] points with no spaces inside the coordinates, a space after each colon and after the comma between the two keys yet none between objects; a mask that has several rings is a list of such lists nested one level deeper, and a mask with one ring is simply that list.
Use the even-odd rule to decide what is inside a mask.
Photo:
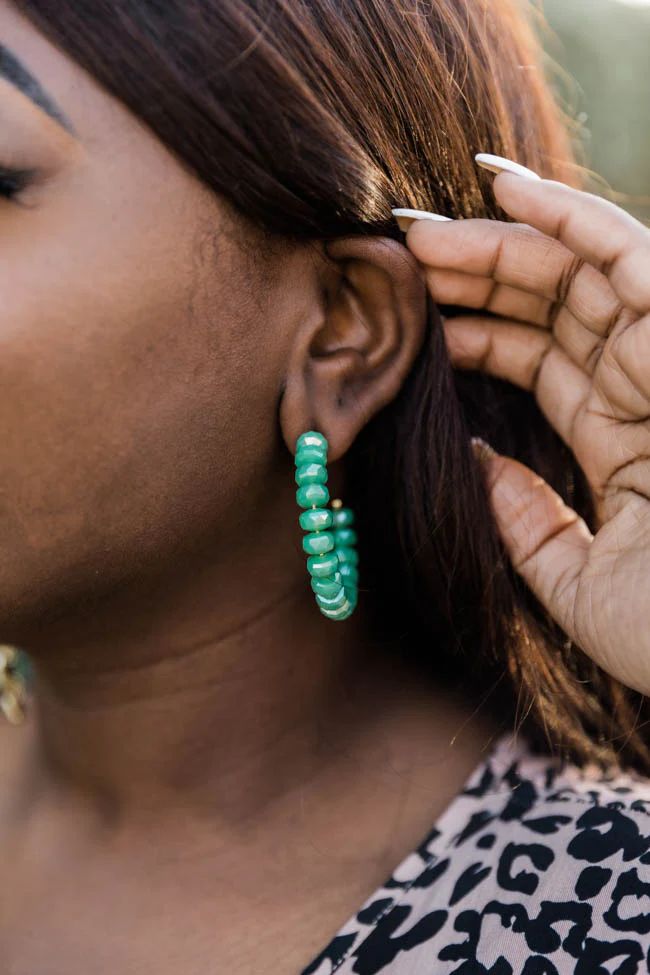
[{"label": "pinkish top with black leopard print on the woman's shoulder", "polygon": [[301,975],[650,972],[650,780],[499,738]]}]

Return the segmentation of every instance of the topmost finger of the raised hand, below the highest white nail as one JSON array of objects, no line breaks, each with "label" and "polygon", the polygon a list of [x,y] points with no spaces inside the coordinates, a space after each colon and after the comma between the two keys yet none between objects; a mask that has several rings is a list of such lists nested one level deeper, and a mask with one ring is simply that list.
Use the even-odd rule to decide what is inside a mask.
[{"label": "topmost finger of the raised hand, below the highest white nail", "polygon": [[640,220],[610,200],[556,180],[502,172],[494,179],[494,195],[515,220],[556,238],[588,261],[609,280],[622,303],[640,314],[648,311],[650,230]]}]

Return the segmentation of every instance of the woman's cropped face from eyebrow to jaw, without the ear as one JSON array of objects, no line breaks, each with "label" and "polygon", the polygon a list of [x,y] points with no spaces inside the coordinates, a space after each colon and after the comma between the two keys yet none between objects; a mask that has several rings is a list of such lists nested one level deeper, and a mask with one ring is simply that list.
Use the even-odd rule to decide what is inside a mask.
[{"label": "woman's cropped face from eyebrow to jaw, without the ear", "polygon": [[[0,197],[0,640],[20,644],[253,530],[316,276],[304,249],[242,249],[228,207],[4,0],[0,43],[0,165],[36,172]],[[288,452],[275,468],[293,498]]]}]

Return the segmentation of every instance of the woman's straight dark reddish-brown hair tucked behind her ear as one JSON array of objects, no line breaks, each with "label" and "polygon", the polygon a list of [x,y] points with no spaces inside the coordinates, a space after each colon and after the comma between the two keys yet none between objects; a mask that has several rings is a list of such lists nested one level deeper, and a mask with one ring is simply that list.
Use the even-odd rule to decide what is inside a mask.
[{"label": "woman's straight dark reddish-brown hair tucked behind her ear", "polygon": [[[401,240],[394,206],[507,219],[481,151],[582,182],[523,0],[15,5],[271,242]],[[472,434],[594,527],[582,472],[532,395],[452,370],[430,302],[400,395],[346,457],[377,632],[439,679],[462,678],[540,748],[650,771],[645,699],[568,643],[510,566]]]}]

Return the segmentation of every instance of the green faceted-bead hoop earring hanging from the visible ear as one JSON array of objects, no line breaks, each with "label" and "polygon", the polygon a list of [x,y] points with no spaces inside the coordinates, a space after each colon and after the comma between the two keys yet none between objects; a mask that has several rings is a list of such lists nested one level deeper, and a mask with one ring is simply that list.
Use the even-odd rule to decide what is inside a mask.
[{"label": "green faceted-bead hoop earring hanging from the visible ear", "polygon": [[[359,553],[354,512],[339,498],[326,507],[327,440],[317,430],[307,430],[296,440],[296,501],[306,510],[299,517],[307,553],[307,571],[316,604],[330,620],[345,620],[357,605]],[[332,529],[328,531],[327,529]]]}]

